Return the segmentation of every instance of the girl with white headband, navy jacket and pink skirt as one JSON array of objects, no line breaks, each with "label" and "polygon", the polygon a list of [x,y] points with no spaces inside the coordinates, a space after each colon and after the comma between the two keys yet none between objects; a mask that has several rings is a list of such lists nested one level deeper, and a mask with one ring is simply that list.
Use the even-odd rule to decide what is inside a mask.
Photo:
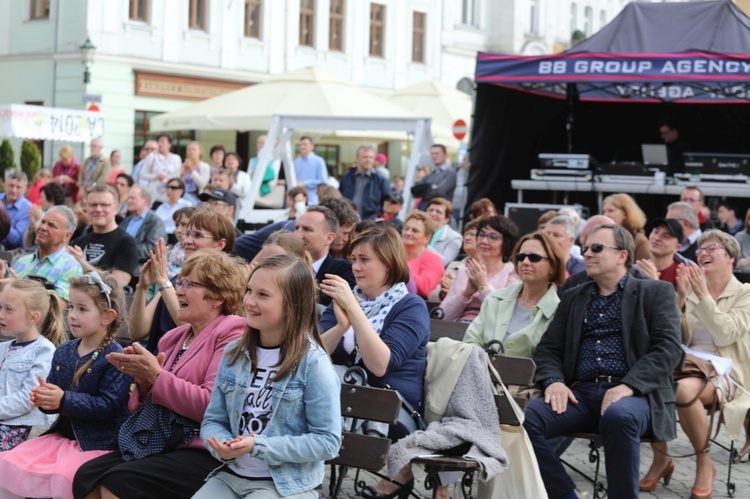
[{"label": "girl with white headband, navy jacket and pink skirt", "polygon": [[42,412],[59,414],[49,431],[0,454],[0,497],[72,498],[78,467],[117,444],[132,378],[107,362],[122,323],[122,291],[110,274],[70,279],[68,324],[76,339],[52,358],[47,381],[31,390]]}]

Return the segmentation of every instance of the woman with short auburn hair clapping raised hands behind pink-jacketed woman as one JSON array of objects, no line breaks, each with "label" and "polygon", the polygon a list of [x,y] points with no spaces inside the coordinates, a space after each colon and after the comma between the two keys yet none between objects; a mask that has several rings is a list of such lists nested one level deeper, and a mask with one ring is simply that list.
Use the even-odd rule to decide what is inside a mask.
[{"label": "woman with short auburn hair clapping raised hands behind pink-jacketed woman", "polygon": [[[211,248],[231,253],[236,239],[234,226],[225,216],[198,210],[190,217],[180,244],[189,258],[196,250]],[[159,296],[146,305],[146,294],[152,283],[158,286]],[[180,325],[177,319],[180,303],[173,280],[167,276],[167,246],[159,241],[151,258],[143,264],[141,277],[135,287],[130,305],[130,338],[139,341],[148,335],[147,349],[155,353],[162,335]]]}]

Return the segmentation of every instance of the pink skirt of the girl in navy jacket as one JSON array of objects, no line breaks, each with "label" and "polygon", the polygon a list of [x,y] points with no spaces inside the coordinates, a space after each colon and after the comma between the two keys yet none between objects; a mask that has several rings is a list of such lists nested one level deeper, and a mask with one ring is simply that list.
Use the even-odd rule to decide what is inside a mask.
[{"label": "pink skirt of the girl in navy jacket", "polygon": [[78,468],[109,452],[82,452],[77,441],[54,433],[32,438],[0,453],[0,484],[21,497],[73,499],[73,477]]}]

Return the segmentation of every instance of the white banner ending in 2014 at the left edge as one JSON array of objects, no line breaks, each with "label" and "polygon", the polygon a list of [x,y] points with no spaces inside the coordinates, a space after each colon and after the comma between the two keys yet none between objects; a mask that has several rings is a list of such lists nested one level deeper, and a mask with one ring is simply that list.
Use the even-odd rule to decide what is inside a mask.
[{"label": "white banner ending in 2014 at the left edge", "polygon": [[104,135],[99,112],[25,104],[0,105],[0,137],[90,142]]}]

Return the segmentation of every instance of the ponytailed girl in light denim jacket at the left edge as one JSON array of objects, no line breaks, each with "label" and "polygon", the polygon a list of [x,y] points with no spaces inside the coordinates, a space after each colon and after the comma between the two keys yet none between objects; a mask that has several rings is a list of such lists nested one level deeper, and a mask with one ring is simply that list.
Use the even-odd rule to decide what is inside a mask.
[{"label": "ponytailed girl in light denim jacket at the left edge", "polygon": [[0,290],[0,331],[15,338],[0,343],[0,450],[26,440],[32,426],[49,424],[31,405],[31,389],[62,343],[60,315],[55,294],[40,282],[15,279]]}]

